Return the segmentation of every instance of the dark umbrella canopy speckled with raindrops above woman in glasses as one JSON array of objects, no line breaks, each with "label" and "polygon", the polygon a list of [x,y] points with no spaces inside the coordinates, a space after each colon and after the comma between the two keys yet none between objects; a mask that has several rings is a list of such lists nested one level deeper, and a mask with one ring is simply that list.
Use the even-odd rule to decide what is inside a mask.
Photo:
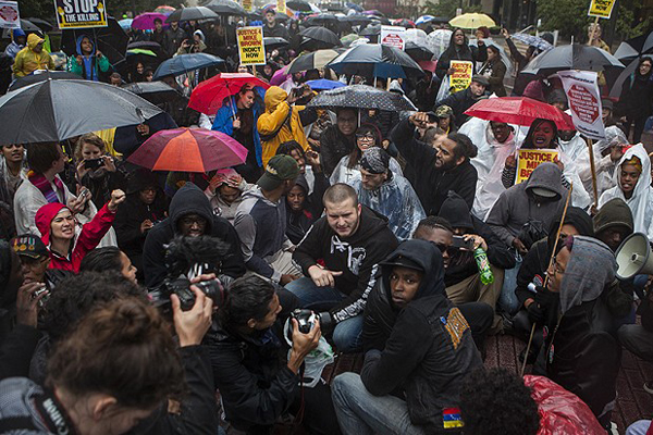
[{"label": "dark umbrella canopy speckled with raindrops above woman in glasses", "polygon": [[308,107],[378,109],[390,112],[417,110],[403,95],[367,85],[350,85],[318,94]]}]

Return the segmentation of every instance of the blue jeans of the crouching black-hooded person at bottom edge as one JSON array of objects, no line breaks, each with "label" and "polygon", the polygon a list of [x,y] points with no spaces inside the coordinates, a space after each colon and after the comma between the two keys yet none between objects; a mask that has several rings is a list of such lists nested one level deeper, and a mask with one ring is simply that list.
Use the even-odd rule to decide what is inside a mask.
[{"label": "blue jeans of the crouching black-hooded person at bottom edge", "polygon": [[331,384],[331,396],[337,422],[345,435],[424,434],[410,421],[404,400],[391,395],[373,396],[356,373],[336,376]]}]

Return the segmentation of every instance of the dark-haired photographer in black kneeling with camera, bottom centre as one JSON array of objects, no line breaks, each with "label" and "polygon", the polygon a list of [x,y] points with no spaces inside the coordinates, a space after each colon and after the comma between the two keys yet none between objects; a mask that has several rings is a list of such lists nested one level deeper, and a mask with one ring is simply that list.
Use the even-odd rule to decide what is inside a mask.
[{"label": "dark-haired photographer in black kneeling with camera, bottom centre", "polygon": [[207,344],[226,420],[238,431],[261,434],[271,433],[286,411],[304,412],[310,433],[337,434],[329,387],[299,384],[304,359],[318,347],[320,323],[303,334],[293,319],[293,347],[284,365],[280,357],[286,348],[276,334],[283,325],[278,318],[283,308],[280,295],[285,299],[287,294],[278,295],[272,284],[258,276],[238,278],[218,311],[219,327]]}]

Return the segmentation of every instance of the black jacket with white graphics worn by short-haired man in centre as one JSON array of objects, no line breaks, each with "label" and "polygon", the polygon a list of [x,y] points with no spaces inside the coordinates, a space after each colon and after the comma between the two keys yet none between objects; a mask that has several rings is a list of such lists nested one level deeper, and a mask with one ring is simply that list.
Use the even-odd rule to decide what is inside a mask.
[{"label": "black jacket with white graphics worn by short-haired man in centre", "polygon": [[362,313],[366,300],[377,281],[378,263],[397,246],[397,238],[387,227],[387,221],[362,206],[356,233],[341,239],[326,217],[320,217],[295,249],[293,260],[308,276],[308,268],[323,260],[324,268],[343,272],[335,277],[335,288],[347,297],[331,309],[336,322]]}]

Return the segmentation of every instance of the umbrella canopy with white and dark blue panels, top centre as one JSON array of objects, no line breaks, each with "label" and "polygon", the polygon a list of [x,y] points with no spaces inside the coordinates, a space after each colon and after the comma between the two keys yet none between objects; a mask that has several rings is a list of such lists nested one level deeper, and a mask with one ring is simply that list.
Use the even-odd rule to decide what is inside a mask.
[{"label": "umbrella canopy with white and dark blue panels, top centre", "polygon": [[364,44],[348,49],[328,65],[337,74],[365,77],[421,77],[422,69],[404,51],[378,44]]}]

